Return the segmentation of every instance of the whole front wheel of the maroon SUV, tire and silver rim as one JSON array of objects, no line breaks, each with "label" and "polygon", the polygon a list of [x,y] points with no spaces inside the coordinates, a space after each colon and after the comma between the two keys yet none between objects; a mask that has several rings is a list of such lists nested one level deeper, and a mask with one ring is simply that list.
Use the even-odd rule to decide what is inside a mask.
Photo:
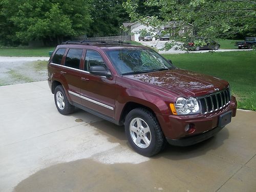
[{"label": "whole front wheel of the maroon SUV, tire and silver rim", "polygon": [[127,114],[124,124],[126,137],[137,153],[150,157],[161,151],[166,141],[152,112],[136,108]]}]

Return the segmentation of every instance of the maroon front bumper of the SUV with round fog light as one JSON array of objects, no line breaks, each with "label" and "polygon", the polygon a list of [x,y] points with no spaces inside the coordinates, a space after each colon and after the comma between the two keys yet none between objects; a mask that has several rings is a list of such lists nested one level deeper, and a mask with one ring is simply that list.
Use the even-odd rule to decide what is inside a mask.
[{"label": "maroon front bumper of the SUV with round fog light", "polygon": [[[223,127],[219,127],[219,118],[228,112],[231,112],[232,117],[236,116],[237,101],[233,96],[229,105],[216,112],[187,116],[157,115],[157,118],[170,144],[187,146],[206,140],[221,131]],[[190,123],[195,125],[193,133],[187,133],[184,130]]]}]

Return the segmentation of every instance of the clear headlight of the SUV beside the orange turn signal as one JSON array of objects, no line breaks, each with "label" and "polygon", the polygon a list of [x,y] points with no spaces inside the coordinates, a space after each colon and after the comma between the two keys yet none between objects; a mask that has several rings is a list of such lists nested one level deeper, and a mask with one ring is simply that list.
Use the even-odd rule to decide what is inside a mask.
[{"label": "clear headlight of the SUV beside the orange turn signal", "polygon": [[177,115],[197,114],[200,112],[199,104],[194,97],[188,99],[179,97],[174,105]]}]

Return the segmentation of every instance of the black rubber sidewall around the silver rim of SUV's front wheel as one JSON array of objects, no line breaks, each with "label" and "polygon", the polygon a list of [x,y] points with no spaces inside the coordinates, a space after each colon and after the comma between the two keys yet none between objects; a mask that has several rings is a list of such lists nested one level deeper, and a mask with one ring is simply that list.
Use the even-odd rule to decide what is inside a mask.
[{"label": "black rubber sidewall around the silver rim of SUV's front wheel", "polygon": [[[130,134],[130,123],[134,118],[141,118],[143,119],[147,125],[150,127],[150,132],[151,132],[151,143],[147,148],[140,148],[139,146],[137,146]],[[156,146],[156,142],[157,142],[157,138],[156,138],[156,131],[154,129],[154,124],[150,118],[150,116],[146,115],[143,111],[139,110],[139,109],[134,109],[132,110],[125,118],[125,134],[126,137],[129,141],[129,143],[132,145],[133,149],[144,156],[152,156],[154,154],[152,154],[155,151],[155,146]]]}]

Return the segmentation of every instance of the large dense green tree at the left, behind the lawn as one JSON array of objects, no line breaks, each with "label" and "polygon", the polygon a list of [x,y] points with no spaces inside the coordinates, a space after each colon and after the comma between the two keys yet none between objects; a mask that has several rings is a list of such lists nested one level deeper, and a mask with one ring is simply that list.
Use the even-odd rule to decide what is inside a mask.
[{"label": "large dense green tree at the left, behind the lawn", "polygon": [[[22,42],[58,40],[85,34],[92,21],[91,0],[2,0],[1,15]],[[5,25],[5,24],[4,24]],[[5,25],[6,26],[6,25]]]}]

